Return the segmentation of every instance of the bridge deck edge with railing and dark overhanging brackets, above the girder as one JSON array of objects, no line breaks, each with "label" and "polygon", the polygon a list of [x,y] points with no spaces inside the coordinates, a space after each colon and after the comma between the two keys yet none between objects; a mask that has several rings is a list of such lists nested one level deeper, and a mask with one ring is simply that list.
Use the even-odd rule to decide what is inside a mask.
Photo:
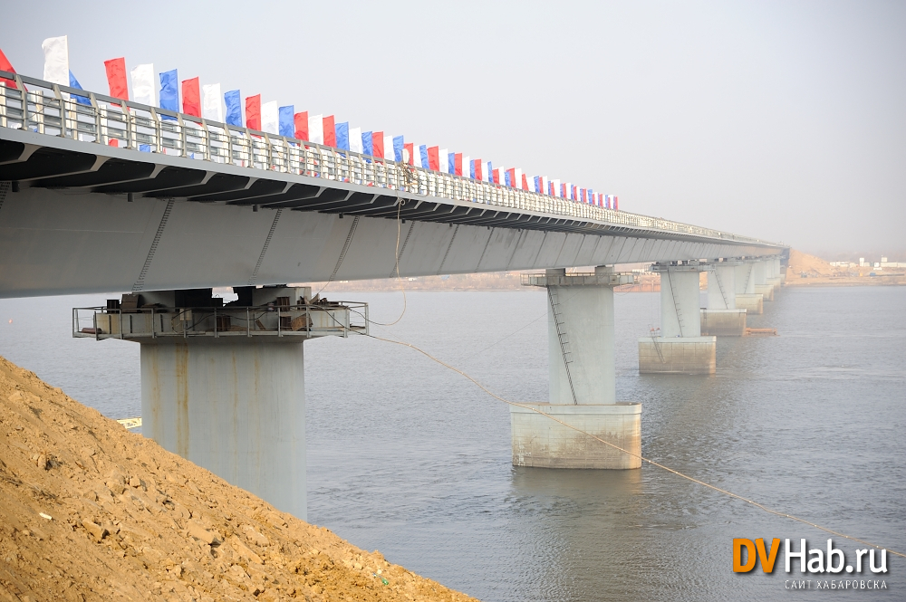
[{"label": "bridge deck edge with railing and dark overhanging brackets, above the girder", "polygon": [[[0,77],[15,79],[20,88],[0,86],[0,180],[15,186],[393,219],[399,215],[451,225],[774,246],[13,73],[0,72]],[[76,94],[90,104],[79,102]]]}]

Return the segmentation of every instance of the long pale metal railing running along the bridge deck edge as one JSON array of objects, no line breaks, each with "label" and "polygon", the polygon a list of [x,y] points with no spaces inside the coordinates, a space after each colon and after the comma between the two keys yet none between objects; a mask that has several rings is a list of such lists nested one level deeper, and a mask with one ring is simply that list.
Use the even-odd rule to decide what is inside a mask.
[{"label": "long pale metal railing running along the bridge deck edge", "polygon": [[[30,129],[41,134],[129,148],[136,152],[320,177],[399,190],[416,196],[490,205],[503,210],[689,234],[732,243],[773,245],[760,239],[697,225],[586,205],[512,186],[453,176],[389,159],[218,123],[11,72],[0,71],[0,78],[14,80],[18,87],[16,90],[0,85],[0,127],[3,128]],[[77,96],[82,98],[82,102],[76,100]]]}]

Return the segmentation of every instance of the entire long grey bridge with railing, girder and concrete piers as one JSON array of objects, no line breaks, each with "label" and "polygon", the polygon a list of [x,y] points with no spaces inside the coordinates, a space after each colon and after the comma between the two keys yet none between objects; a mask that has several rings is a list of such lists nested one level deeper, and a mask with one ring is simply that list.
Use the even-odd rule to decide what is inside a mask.
[{"label": "entire long grey bridge with railing, girder and concrete piers", "polygon": [[641,449],[641,406],[615,399],[612,288],[631,276],[612,266],[662,275],[642,372],[713,373],[714,335],[745,332],[782,281],[788,250],[757,238],[3,79],[0,296],[128,291],[73,334],[140,342],[145,432],[302,518],[302,341],[348,336],[356,310],[286,282],[544,270],[525,284],[548,294],[550,403],[514,411],[514,463],[633,468],[545,421]]}]

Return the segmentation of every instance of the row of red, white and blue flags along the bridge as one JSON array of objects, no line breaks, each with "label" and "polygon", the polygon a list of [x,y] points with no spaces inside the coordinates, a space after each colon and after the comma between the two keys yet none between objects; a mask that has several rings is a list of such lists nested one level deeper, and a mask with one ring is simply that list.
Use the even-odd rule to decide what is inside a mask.
[{"label": "row of red, white and blue flags along the bridge", "polygon": [[[43,79],[82,90],[69,68],[67,37],[48,38],[42,43],[42,48]],[[413,167],[470,177],[578,203],[619,209],[617,196],[597,193],[592,188],[546,176],[530,177],[517,167],[494,167],[489,160],[470,158],[439,146],[417,145],[407,142],[403,136],[351,128],[348,121],[337,122],[333,115],[309,115],[308,111],[297,112],[294,105],[279,106],[275,100],[262,102],[261,94],[243,99],[238,90],[222,91],[219,83],[201,85],[198,77],[179,81],[176,69],[159,72],[155,77],[153,64],[140,64],[127,72],[126,61],[121,57],[105,61],[104,68],[113,98],[133,100],[196,118],[246,127],[373,158],[406,162]],[[2,50],[0,70],[14,72],[13,65],[6,60]],[[0,79],[0,83],[15,86],[15,82],[10,80]],[[74,99],[83,104],[91,104],[87,97],[74,96]],[[161,118],[176,119],[168,115],[161,115]]]}]

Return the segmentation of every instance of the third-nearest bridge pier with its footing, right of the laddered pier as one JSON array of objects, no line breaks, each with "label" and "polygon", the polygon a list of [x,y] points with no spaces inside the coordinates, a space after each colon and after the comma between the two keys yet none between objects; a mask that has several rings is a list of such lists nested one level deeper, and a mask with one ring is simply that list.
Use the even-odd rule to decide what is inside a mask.
[{"label": "third-nearest bridge pier with its footing, right of the laddered pier", "polygon": [[641,374],[714,374],[717,338],[701,336],[698,261],[655,263],[660,272],[660,337],[639,339]]}]

